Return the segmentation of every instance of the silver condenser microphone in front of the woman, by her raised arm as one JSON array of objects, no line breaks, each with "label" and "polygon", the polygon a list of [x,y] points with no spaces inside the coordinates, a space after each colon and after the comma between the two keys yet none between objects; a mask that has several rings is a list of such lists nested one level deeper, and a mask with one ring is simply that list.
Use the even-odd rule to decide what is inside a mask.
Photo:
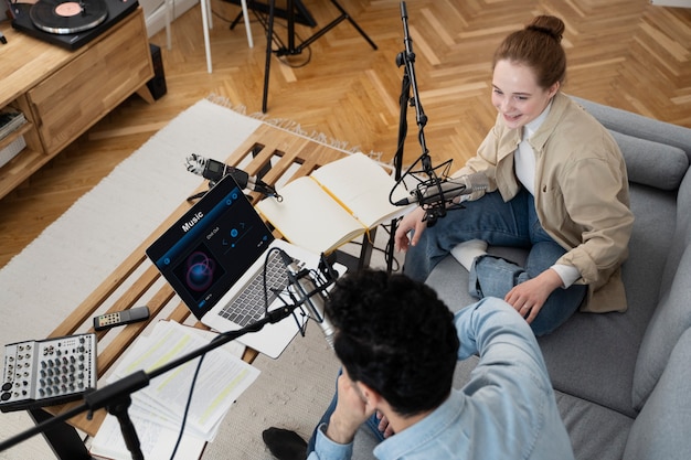
[{"label": "silver condenser microphone in front of the woman, by her raised arm", "polygon": [[411,197],[400,200],[396,206],[405,206],[412,203],[419,205],[434,205],[451,202],[457,196],[469,195],[474,192],[487,191],[489,179],[483,172],[475,172],[459,178],[445,180],[428,180],[421,182],[411,192]]}]

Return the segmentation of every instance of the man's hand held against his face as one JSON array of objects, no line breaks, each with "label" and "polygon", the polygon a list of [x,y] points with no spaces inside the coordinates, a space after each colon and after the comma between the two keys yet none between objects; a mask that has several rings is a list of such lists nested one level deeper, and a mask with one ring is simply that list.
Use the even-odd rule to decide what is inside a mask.
[{"label": "man's hand held against his face", "polygon": [[338,377],[338,402],[327,427],[327,437],[341,445],[352,442],[355,431],[374,409],[343,370]]}]

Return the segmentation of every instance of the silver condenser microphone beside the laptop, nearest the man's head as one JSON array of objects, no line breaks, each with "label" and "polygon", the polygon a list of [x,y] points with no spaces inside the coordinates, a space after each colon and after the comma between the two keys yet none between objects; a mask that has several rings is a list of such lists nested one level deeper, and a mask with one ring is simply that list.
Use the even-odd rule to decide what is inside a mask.
[{"label": "silver condenser microphone beside the laptop, nearest the man's head", "polygon": [[333,349],[333,325],[325,315],[326,298],[322,292],[327,286],[317,287],[309,270],[300,270],[295,260],[284,250],[280,252],[280,255],[288,270],[288,281],[298,297],[297,303],[307,307],[310,318],[319,323],[325,339]]}]

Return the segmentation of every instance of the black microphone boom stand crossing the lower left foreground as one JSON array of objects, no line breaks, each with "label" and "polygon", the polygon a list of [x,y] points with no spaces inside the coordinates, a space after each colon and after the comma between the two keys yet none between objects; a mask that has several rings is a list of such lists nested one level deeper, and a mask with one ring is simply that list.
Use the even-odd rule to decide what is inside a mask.
[{"label": "black microphone boom stand crossing the lower left foreground", "polygon": [[123,377],[121,379],[108,386],[87,393],[86,395],[84,395],[84,403],[79,406],[76,406],[61,415],[50,418],[46,421],[36,425],[35,427],[32,427],[6,441],[0,442],[0,452],[38,434],[47,431],[57,424],[62,424],[82,413],[88,413],[87,417],[91,419],[95,410],[105,407],[108,413],[110,413],[118,419],[120,424],[120,431],[123,432],[123,438],[125,439],[125,445],[130,451],[132,460],[143,460],[143,454],[141,452],[139,443],[139,437],[137,436],[135,426],[127,411],[131,403],[130,395],[132,393],[148,386],[149,382],[152,378],[156,378],[161,374],[164,374],[178,366],[181,366],[187,362],[194,360],[195,357],[202,356],[205,353],[209,353],[210,351],[215,350],[219,346],[236,340],[247,333],[257,332],[268,323],[276,323],[278,321],[281,321],[283,319],[289,317],[301,304],[302,302],[283,306],[276,310],[267,312],[266,317],[252,324],[246,325],[243,329],[219,334],[206,345],[201,346],[198,350],[192,351],[179,359],[176,359],[170,363],[158,367],[149,373],[146,373],[145,371],[138,371],[126,377]]}]

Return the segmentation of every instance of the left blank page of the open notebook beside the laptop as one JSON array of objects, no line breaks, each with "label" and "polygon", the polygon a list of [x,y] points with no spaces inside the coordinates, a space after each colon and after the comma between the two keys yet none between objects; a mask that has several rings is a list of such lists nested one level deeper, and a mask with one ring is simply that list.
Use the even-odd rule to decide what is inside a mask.
[{"label": "left blank page of the open notebook beside the laptop", "polygon": [[331,253],[365,232],[341,205],[309,176],[298,178],[267,197],[257,211],[290,243],[316,254]]}]

